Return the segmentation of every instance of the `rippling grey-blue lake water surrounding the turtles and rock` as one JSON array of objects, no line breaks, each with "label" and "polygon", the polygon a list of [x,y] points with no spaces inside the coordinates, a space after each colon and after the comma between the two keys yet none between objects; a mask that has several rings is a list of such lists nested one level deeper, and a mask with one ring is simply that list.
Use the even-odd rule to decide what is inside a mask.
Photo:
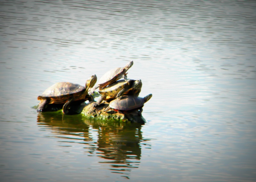
[{"label": "rippling grey-blue lake water surrounding the turtles and rock", "polygon": [[[256,181],[256,1],[0,2],[0,179]],[[134,62],[143,126],[37,113]]]}]

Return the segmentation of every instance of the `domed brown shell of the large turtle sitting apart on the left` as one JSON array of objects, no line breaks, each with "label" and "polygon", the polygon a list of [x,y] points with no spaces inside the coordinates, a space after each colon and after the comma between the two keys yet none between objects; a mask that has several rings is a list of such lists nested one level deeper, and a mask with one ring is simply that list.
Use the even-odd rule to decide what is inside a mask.
[{"label": "domed brown shell of the large turtle sitting apart on the left", "polygon": [[[75,100],[84,99],[86,88],[79,84],[70,82],[59,82],[46,89],[38,100],[51,99],[49,104],[61,104],[73,97]],[[86,93],[87,94],[87,93]]]}]

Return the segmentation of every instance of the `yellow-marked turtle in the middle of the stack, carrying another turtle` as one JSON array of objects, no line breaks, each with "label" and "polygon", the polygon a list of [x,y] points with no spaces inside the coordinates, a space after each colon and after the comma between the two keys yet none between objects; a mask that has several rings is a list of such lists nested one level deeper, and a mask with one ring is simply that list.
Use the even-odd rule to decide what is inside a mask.
[{"label": "yellow-marked turtle in the middle of the stack, carrying another turtle", "polygon": [[113,100],[124,94],[139,96],[142,87],[141,80],[119,80],[99,91],[100,99],[95,105],[100,105],[103,100]]}]

